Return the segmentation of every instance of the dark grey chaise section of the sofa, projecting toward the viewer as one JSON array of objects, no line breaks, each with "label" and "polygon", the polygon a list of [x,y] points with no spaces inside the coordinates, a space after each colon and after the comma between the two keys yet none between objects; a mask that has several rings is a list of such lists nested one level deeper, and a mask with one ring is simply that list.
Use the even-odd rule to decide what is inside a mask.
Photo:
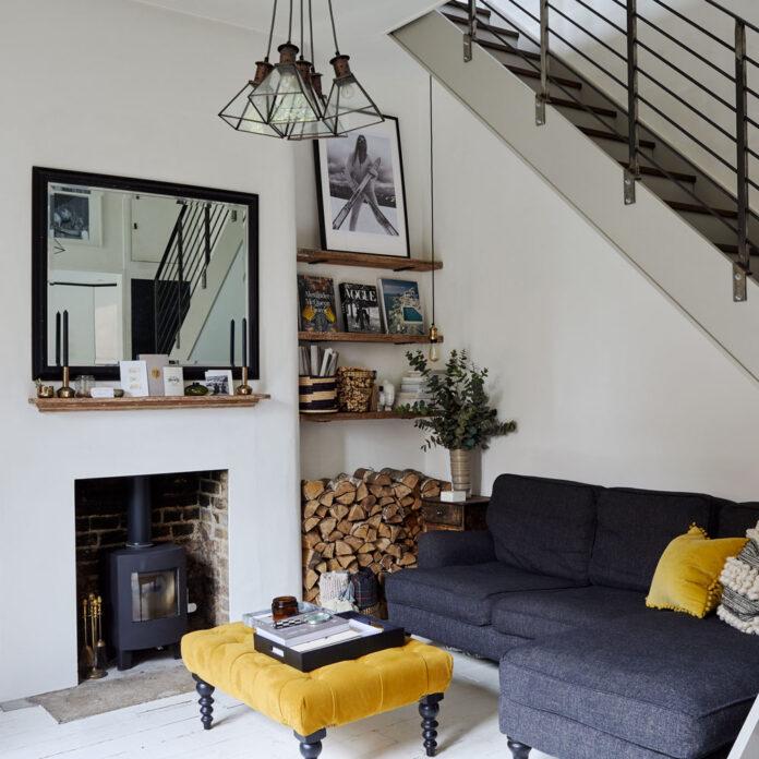
[{"label": "dark grey chaise section of the sofa, projecting toward the viewer", "polygon": [[[626,742],[626,757],[699,759],[734,740],[748,714],[759,638],[716,617],[648,610],[507,651],[501,684],[502,732],[543,751],[598,756],[585,726]],[[575,723],[574,744],[550,745],[543,715]]]}]

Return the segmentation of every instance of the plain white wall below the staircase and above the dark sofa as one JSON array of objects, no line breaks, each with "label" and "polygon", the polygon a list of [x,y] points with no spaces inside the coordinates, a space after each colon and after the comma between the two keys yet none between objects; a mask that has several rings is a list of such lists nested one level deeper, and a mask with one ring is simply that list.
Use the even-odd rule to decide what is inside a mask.
[{"label": "plain white wall below the staircase and above the dark sofa", "polygon": [[[757,383],[458,100],[435,98],[441,327],[519,424],[483,455],[484,492],[511,471],[759,498]],[[445,474],[444,453],[426,469]]]}]

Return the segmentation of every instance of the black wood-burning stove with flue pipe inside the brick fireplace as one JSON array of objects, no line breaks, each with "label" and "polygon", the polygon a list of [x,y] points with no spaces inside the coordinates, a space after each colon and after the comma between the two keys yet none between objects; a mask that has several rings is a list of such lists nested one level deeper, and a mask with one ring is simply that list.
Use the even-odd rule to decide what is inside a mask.
[{"label": "black wood-burning stove with flue pipe inside the brick fireplace", "polygon": [[129,482],[126,545],[111,551],[105,566],[108,621],[119,670],[132,666],[132,652],[170,646],[188,631],[184,549],[150,543],[150,479]]}]

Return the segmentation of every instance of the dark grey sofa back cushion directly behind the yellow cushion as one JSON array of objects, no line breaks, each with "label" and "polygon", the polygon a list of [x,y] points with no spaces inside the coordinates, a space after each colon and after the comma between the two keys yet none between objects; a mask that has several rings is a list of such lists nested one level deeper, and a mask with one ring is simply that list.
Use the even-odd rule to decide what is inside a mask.
[{"label": "dark grey sofa back cushion directly behind the yellow cushion", "polygon": [[708,495],[622,487],[603,491],[598,503],[590,581],[648,590],[670,541],[692,522],[709,525],[710,513]]}]

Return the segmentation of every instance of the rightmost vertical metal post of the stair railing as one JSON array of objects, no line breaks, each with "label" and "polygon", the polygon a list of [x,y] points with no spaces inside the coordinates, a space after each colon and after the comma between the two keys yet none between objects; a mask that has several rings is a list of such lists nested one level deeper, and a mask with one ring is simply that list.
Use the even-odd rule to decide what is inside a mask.
[{"label": "rightmost vertical metal post of the stair railing", "polygon": [[738,261],[733,266],[733,300],[746,300],[746,278],[750,273],[750,245],[748,241],[748,88],[746,74],[746,24],[735,20],[735,137],[738,174]]}]

